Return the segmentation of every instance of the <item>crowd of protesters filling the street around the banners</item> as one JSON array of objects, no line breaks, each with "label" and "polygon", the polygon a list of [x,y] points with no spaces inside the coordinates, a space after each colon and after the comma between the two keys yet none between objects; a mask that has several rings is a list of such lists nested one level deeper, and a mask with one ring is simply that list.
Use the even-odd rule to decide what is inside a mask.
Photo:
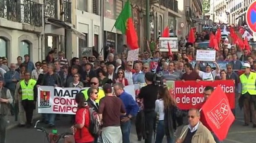
[{"label": "crowd of protesters filling the street around the banners", "polygon": [[[195,37],[196,43],[207,41],[210,32],[207,30],[201,33],[196,32]],[[235,45],[228,47],[224,43],[224,39],[221,41],[219,51],[216,51],[216,61],[213,62],[215,67],[201,61],[197,61],[196,66],[192,66],[191,62],[196,59],[196,50],[199,49],[196,43],[189,43],[188,36],[181,37],[178,42],[178,52],[172,52],[173,55],[170,56],[167,52],[160,52],[159,42],[152,39],[149,47],[140,52],[137,61],[126,61],[129,51],[126,45],[123,45],[121,54],[115,52],[114,46],[106,46],[104,47],[104,56],[94,54],[90,57],[74,57],[70,61],[65,58],[62,51],[57,51],[57,49],[50,51],[45,60],[37,61],[35,64],[27,54],[24,57],[18,56],[17,63],[10,64],[8,64],[6,57],[0,57],[0,89],[4,85],[8,89],[7,91],[4,90],[4,94],[6,96],[11,95],[10,100],[0,100],[0,102],[11,104],[10,113],[11,115],[18,113],[20,127],[27,126],[30,128],[33,110],[36,108],[37,87],[90,87],[76,96],[78,111],[76,116],[71,117],[71,122],[74,124],[73,128],[77,132],[74,136],[76,143],[101,141],[103,143],[129,143],[131,120],[135,119],[138,138],[145,138],[145,143],[152,143],[156,120],[156,143],[161,143],[165,135],[167,142],[173,143],[176,126],[183,123],[178,122],[178,116],[175,119],[171,117],[173,110],[176,108],[178,110],[175,99],[170,96],[167,86],[161,85],[159,87],[153,84],[154,73],[162,75],[163,83],[179,80],[199,82],[200,80],[232,79],[235,82],[235,93],[236,98],[238,98],[241,94],[246,94],[243,89],[244,84],[240,83],[239,76],[244,71],[246,73],[250,73],[250,70],[256,71],[256,51],[242,50]],[[226,65],[225,69],[221,69],[218,65],[219,61],[228,61],[229,64]],[[241,69],[244,70],[240,72]],[[130,94],[124,91],[124,87],[141,83],[146,83],[147,86],[141,88],[135,101]],[[100,136],[90,135],[89,129],[86,128],[90,123],[89,110],[84,108],[87,104],[94,107],[102,120]],[[251,119],[255,128],[255,115],[253,115],[255,109],[249,108],[251,107],[249,105],[252,104],[255,105],[255,100],[253,102],[246,97],[244,102],[245,125],[249,125],[248,120]],[[61,120],[61,118],[62,115],[42,114],[42,122],[48,124],[50,128],[55,127],[55,120]],[[143,118],[145,121],[141,121]],[[198,127],[199,118],[199,111],[191,109],[188,112],[188,119],[191,121],[191,133],[189,133],[191,136],[190,139],[177,140],[178,143],[191,140],[195,134],[192,132],[194,130],[192,126],[205,130],[202,125]],[[145,124],[144,127],[140,127],[141,124]],[[81,137],[78,132],[79,134],[83,132],[82,135],[84,136]],[[205,132],[209,135],[208,131]],[[1,130],[1,139],[2,133]],[[212,137],[209,138],[212,141]],[[215,136],[214,140],[219,143]]]}]

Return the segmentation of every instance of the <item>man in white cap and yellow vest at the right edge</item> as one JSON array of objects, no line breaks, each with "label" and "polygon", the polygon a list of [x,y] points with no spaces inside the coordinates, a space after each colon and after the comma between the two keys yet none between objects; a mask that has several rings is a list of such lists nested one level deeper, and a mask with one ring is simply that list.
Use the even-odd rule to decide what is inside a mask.
[{"label": "man in white cap and yellow vest at the right edge", "polygon": [[251,119],[253,128],[256,128],[256,73],[251,72],[249,63],[244,63],[242,69],[244,69],[244,74],[240,75],[240,89],[238,93],[239,100],[243,101],[244,126],[248,126]]}]

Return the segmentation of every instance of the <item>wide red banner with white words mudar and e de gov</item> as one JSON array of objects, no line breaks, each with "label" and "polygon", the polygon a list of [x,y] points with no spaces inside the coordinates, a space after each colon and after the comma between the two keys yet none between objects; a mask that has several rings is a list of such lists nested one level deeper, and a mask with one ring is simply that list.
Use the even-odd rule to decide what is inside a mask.
[{"label": "wide red banner with white words mudar and e de gov", "polygon": [[233,80],[215,80],[212,81],[167,81],[167,87],[172,87],[174,90],[175,100],[177,105],[182,110],[191,108],[200,109],[204,102],[204,88],[212,86],[216,88],[221,86],[222,90],[227,95],[231,109],[235,108],[235,87]]}]

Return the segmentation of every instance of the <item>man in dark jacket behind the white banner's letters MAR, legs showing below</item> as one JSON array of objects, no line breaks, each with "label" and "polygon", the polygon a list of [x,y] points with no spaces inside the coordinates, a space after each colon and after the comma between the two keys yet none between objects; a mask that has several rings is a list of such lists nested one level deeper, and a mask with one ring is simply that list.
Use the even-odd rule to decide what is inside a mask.
[{"label": "man in dark jacket behind the white banner's letters MAR, legs showing below", "polygon": [[[44,76],[42,77],[42,81],[39,85],[61,87],[62,82],[60,76],[54,73],[53,64],[47,65],[47,74],[44,74]],[[47,123],[49,122],[50,128],[55,126],[55,116],[56,114],[44,114],[45,120]]]}]

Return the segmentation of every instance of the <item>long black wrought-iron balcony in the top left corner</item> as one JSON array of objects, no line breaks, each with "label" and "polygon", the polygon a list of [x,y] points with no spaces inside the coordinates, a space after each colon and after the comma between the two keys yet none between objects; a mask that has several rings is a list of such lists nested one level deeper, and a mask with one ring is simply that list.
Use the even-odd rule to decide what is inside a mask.
[{"label": "long black wrought-iron balcony in the top left corner", "polygon": [[30,0],[0,0],[0,18],[42,26],[42,5]]}]

